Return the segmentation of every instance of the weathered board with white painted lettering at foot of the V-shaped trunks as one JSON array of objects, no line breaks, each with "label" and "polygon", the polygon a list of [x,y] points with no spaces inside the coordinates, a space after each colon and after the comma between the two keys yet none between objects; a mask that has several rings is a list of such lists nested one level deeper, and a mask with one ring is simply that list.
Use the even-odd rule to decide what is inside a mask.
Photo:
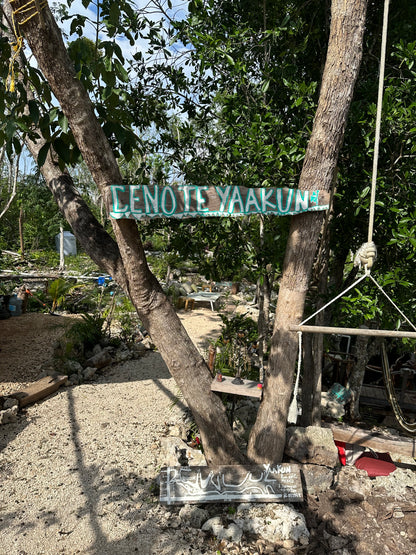
[{"label": "weathered board with white painted lettering at foot of the V-shaped trunks", "polygon": [[303,501],[300,469],[295,464],[165,467],[160,473],[160,502],[294,503]]}]

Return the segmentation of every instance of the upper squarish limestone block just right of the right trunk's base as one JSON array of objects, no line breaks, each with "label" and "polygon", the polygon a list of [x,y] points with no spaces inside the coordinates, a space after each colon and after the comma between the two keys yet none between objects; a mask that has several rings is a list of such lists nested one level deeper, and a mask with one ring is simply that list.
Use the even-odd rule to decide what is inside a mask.
[{"label": "upper squarish limestone block just right of the right trunk's base", "polygon": [[301,463],[334,467],[338,464],[338,450],[330,429],[316,426],[289,427],[285,453]]}]

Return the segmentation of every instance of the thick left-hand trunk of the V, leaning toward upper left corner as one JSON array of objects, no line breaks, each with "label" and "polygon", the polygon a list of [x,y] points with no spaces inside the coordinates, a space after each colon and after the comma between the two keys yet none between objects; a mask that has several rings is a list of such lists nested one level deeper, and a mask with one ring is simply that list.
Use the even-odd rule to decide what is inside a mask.
[{"label": "thick left-hand trunk of the V, leaning toward upper left corner", "polygon": [[[26,0],[13,2],[15,19],[20,22],[20,30],[24,33],[38,67],[68,119],[94,181],[103,198],[107,199],[110,194],[109,185],[122,183],[114,154],[95,116],[94,107],[76,78],[62,35],[49,7],[46,5],[42,10],[42,21],[39,17],[24,21],[24,16],[17,10],[25,3]],[[5,2],[5,6],[11,9],[9,2]],[[46,168],[43,171],[46,173]],[[54,177],[56,180],[62,178],[65,180],[67,177]],[[208,367],[147,265],[137,224],[133,220],[116,220],[112,224],[120,253],[117,261],[118,273],[122,274],[120,277],[125,290],[194,415],[204,442],[208,464],[242,462],[244,457],[236,445],[224,405],[210,389],[211,374]],[[98,253],[92,252],[89,238],[85,236],[88,228],[84,228],[82,222],[76,226],[74,233],[95,260],[99,259],[100,254],[105,255],[105,248]]]}]

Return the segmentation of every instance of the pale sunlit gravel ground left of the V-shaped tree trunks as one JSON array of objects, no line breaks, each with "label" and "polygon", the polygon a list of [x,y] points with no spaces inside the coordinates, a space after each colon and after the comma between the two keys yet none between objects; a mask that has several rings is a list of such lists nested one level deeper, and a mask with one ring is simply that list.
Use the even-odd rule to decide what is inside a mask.
[{"label": "pale sunlit gravel ground left of the V-shaped tree trunks", "polygon": [[[33,316],[0,322],[3,332],[25,320],[32,326]],[[181,318],[201,348],[221,322],[207,310]],[[10,353],[2,361],[3,378],[16,385]],[[159,438],[165,422],[182,417],[180,404],[172,408],[176,394],[160,355],[149,353],[92,383],[62,388],[27,407],[17,423],[0,426],[0,554],[203,552],[191,547],[194,534],[168,526],[172,511],[159,506],[155,491]]]}]

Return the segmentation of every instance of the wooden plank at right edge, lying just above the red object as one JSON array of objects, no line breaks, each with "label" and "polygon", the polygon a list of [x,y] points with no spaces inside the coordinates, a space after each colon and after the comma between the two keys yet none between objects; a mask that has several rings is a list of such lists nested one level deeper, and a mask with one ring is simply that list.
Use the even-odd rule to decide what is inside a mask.
[{"label": "wooden plank at right edge, lying just above the red object", "polygon": [[331,428],[332,435],[336,441],[356,443],[364,447],[370,447],[379,453],[389,452],[413,458],[416,457],[416,438],[401,437],[397,439],[394,436],[378,436],[368,430],[345,425],[336,426],[335,424],[327,424],[324,427]]}]

